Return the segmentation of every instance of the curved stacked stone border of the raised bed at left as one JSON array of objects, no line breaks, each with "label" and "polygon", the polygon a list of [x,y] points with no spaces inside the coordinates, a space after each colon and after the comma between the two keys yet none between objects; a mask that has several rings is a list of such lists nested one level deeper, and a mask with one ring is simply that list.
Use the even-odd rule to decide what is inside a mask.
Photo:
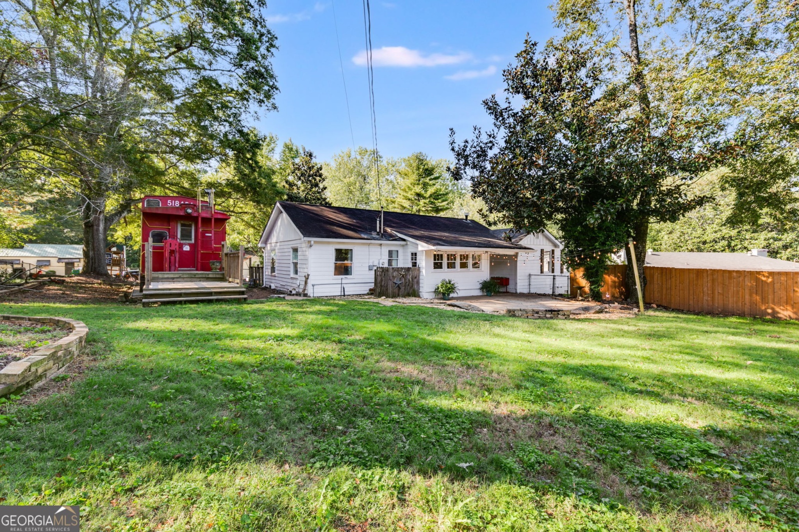
[{"label": "curved stacked stone border of the raised bed at left", "polygon": [[59,370],[72,362],[75,355],[85,349],[89,328],[82,321],[47,316],[10,316],[0,314],[0,320],[34,321],[72,329],[69,335],[48,343],[22,360],[15,360],[0,371],[0,397],[17,394],[43,384]]}]

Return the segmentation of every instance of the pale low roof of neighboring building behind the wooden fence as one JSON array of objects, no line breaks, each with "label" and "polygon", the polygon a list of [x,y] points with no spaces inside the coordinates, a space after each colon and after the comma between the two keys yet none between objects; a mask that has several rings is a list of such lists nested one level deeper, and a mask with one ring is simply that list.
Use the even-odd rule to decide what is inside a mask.
[{"label": "pale low roof of neighboring building behind the wooden fence", "polygon": [[749,270],[752,272],[799,271],[799,263],[771,259],[767,249],[745,253],[646,252],[646,266],[653,268],[694,268],[703,270]]}]

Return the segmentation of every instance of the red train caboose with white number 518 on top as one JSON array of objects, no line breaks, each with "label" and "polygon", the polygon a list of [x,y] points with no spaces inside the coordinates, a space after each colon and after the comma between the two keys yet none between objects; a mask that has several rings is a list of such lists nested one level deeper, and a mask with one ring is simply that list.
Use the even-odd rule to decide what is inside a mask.
[{"label": "red train caboose with white number 518 on top", "polygon": [[[221,260],[230,216],[209,201],[185,196],[145,196],[141,200],[141,243],[153,239],[153,272],[211,272]],[[145,264],[142,245],[141,264]],[[218,266],[218,263],[215,264]]]}]

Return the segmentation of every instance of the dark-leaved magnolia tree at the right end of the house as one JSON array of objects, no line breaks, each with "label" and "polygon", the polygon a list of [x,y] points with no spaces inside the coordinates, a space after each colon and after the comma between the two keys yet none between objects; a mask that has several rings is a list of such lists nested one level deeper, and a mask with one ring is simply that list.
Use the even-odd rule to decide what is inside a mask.
[{"label": "dark-leaved magnolia tree at the right end of the house", "polygon": [[643,258],[650,220],[676,220],[706,200],[685,187],[724,153],[717,125],[649,105],[637,76],[614,77],[610,58],[573,42],[538,54],[528,38],[503,72],[505,101],[484,102],[494,129],[460,145],[451,132],[455,178],[471,178],[502,222],[555,224],[570,264],[597,285],[627,236],[642,235]]}]

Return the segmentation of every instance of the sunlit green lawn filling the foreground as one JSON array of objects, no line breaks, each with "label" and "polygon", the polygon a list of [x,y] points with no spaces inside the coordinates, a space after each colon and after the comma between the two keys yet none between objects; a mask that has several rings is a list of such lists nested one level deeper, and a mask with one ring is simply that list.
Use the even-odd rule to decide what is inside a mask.
[{"label": "sunlit green lawn filling the foreground", "polygon": [[799,529],[793,322],[0,312],[91,331],[84,378],[0,427],[3,503],[80,504],[83,530]]}]

